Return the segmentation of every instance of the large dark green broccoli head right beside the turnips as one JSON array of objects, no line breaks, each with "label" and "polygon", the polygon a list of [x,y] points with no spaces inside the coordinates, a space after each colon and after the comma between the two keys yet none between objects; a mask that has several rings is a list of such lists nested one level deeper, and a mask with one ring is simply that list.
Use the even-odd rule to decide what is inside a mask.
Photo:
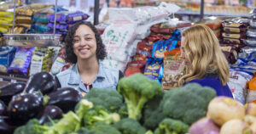
[{"label": "large dark green broccoli head right beside the turnips", "polygon": [[160,106],[167,117],[191,125],[206,116],[208,103],[215,96],[212,88],[189,83],[166,92]]}]

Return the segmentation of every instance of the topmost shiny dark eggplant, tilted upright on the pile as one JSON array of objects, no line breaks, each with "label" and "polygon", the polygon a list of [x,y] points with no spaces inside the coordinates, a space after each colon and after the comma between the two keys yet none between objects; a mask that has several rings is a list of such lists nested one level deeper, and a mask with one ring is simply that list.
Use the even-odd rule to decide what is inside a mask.
[{"label": "topmost shiny dark eggplant, tilted upright on the pile", "polygon": [[39,72],[29,77],[23,92],[42,92],[48,94],[56,90],[57,84],[53,75],[48,72]]}]

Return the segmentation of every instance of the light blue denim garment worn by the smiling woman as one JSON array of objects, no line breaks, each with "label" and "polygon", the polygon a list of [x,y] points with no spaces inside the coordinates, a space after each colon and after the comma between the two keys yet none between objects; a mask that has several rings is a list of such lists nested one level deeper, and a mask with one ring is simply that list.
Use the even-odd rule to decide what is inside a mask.
[{"label": "light blue denim garment worn by the smiling woman", "polygon": [[[80,78],[78,64],[73,65],[69,68],[56,75],[61,83],[61,87],[73,87],[79,92],[88,93],[89,90],[84,87],[84,83]],[[96,79],[92,83],[94,88],[104,88],[104,89],[116,89],[117,83],[119,81],[119,70],[107,67],[99,61],[99,71],[96,75]]]}]

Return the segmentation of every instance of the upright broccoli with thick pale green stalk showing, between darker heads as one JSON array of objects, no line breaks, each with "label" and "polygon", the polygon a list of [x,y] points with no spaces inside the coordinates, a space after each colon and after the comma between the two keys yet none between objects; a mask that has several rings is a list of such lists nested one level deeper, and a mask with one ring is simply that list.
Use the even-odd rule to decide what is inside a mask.
[{"label": "upright broccoli with thick pale green stalk showing, between darker heads", "polygon": [[157,81],[143,74],[135,74],[122,78],[118,83],[118,91],[125,98],[129,118],[139,120],[144,103],[162,90]]}]

